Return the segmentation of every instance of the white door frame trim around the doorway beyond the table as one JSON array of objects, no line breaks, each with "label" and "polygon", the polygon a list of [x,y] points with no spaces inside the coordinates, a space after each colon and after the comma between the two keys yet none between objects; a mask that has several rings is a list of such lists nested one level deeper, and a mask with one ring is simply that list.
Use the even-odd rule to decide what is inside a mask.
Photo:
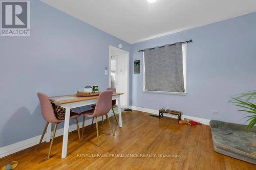
[{"label": "white door frame trim around the doorway beyond the table", "polygon": [[126,89],[126,91],[127,91],[127,102],[126,102],[126,108],[129,108],[129,93],[130,93],[130,53],[129,52],[127,52],[127,51],[125,51],[125,50],[122,50],[122,49],[120,49],[120,48],[117,48],[117,47],[115,47],[115,46],[112,46],[112,45],[110,45],[109,46],[109,87],[111,87],[111,50],[115,50],[115,51],[119,51],[120,53],[124,53],[125,54],[125,56],[127,56],[126,57],[126,60],[127,60],[127,62],[126,62],[126,64],[127,64],[127,89]]}]

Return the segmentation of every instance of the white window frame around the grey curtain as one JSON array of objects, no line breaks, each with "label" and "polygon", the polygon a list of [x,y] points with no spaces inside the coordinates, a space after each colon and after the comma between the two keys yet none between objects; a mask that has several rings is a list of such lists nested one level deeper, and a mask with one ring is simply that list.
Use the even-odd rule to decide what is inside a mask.
[{"label": "white window frame around the grey curtain", "polygon": [[183,62],[183,78],[184,78],[184,92],[171,92],[171,91],[150,91],[145,90],[145,57],[143,52],[143,92],[147,93],[166,93],[166,94],[178,94],[186,95],[187,94],[187,44],[182,44],[182,62]]}]

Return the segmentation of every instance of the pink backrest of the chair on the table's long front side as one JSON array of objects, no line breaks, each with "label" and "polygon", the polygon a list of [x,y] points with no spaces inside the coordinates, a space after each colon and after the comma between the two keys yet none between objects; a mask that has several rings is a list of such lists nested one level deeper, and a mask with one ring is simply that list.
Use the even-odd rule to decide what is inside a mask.
[{"label": "pink backrest of the chair on the table's long front side", "polygon": [[93,113],[93,117],[102,116],[108,113],[112,106],[112,95],[113,91],[107,90],[99,94],[98,101]]}]

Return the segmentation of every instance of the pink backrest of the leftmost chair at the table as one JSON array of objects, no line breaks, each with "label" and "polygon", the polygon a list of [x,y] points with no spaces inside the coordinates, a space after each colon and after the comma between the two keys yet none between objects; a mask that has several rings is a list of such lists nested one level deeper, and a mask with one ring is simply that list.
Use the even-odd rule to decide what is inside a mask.
[{"label": "pink backrest of the leftmost chair at the table", "polygon": [[41,114],[44,119],[49,123],[59,123],[60,121],[56,118],[52,104],[48,96],[44,93],[37,93],[38,99],[41,105]]}]

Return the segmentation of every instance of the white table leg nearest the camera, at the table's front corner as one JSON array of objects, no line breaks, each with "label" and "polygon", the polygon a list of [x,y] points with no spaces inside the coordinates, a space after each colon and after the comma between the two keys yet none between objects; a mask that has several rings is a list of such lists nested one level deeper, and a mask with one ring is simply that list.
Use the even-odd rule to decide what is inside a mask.
[{"label": "white table leg nearest the camera, at the table's front corner", "polygon": [[63,130],[63,141],[62,141],[62,154],[61,158],[64,159],[67,157],[68,149],[68,137],[69,137],[69,120],[70,120],[70,107],[65,107],[65,122]]}]

